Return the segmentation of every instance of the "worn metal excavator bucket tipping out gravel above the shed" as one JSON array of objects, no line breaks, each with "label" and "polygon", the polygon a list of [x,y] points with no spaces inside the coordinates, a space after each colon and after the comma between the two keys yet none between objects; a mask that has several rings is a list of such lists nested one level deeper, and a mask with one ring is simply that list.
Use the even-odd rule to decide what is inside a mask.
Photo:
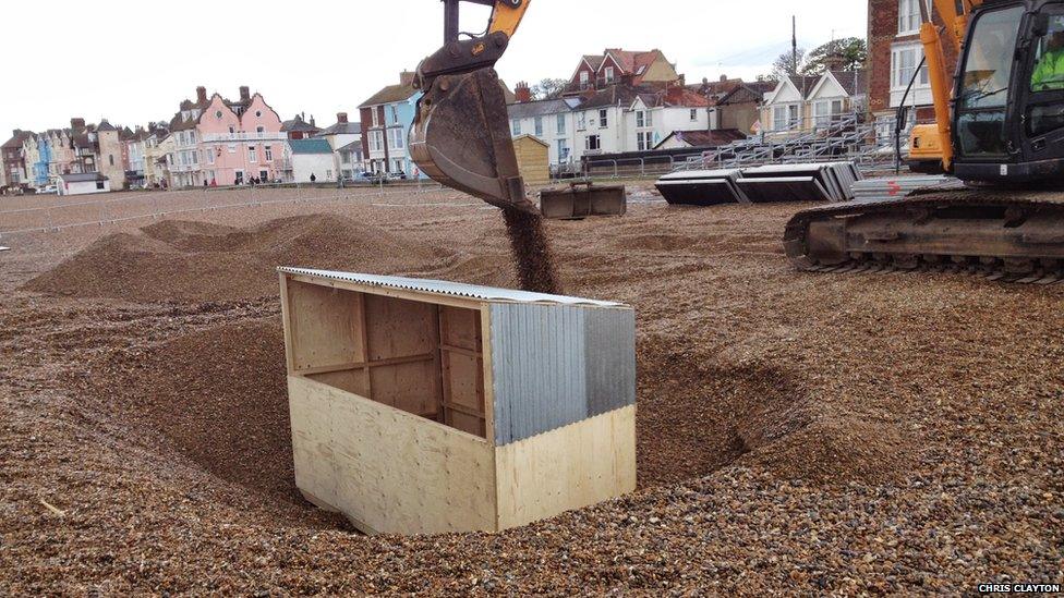
[{"label": "worn metal excavator bucket tipping out gravel above the shed", "polygon": [[494,69],[437,76],[418,103],[410,152],[436,182],[506,210],[536,213],[524,192]]}]

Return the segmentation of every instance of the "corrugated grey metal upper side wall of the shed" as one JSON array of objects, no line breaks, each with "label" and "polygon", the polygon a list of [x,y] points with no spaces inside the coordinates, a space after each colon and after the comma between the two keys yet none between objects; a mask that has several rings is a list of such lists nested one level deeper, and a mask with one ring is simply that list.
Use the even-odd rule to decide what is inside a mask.
[{"label": "corrugated grey metal upper side wall of the shed", "polygon": [[630,309],[492,305],[495,442],[634,404]]}]

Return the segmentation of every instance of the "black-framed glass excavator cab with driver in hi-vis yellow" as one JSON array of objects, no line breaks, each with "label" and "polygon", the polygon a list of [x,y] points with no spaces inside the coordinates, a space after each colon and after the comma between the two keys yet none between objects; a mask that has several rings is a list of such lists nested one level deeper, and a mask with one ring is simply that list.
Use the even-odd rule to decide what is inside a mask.
[{"label": "black-framed glass excavator cab with driver in hi-vis yellow", "polygon": [[995,2],[968,25],[954,91],[954,173],[1064,179],[1064,2]]}]

